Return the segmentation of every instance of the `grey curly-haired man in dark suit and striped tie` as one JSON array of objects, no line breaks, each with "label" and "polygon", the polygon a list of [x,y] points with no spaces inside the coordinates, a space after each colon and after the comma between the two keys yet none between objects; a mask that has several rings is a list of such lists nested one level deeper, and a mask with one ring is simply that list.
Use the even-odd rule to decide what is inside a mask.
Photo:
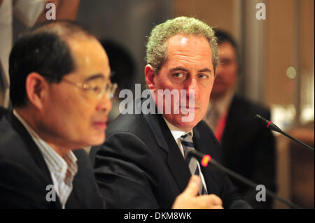
[{"label": "grey curly-haired man in dark suit and striped tie", "polygon": [[[106,143],[90,152],[108,207],[250,208],[224,173],[188,156],[199,150],[221,157],[214,134],[200,122],[218,64],[214,31],[188,17],[159,24],[148,40],[147,64],[152,96],[134,103],[141,114],[120,115],[106,131]],[[190,206],[181,206],[187,200],[179,194],[191,175],[200,176],[200,187]]]}]

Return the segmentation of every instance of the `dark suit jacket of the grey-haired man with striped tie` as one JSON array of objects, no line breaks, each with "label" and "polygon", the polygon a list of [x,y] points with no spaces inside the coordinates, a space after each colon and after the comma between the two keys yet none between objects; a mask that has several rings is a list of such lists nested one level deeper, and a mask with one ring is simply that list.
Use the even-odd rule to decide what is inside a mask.
[{"label": "dark suit jacket of the grey-haired man with striped tie", "polygon": [[[194,129],[200,152],[220,159],[218,141],[205,122]],[[108,208],[172,208],[190,179],[186,161],[162,115],[120,115],[106,131],[106,141],[92,148],[95,176]],[[228,177],[216,168],[202,173],[209,194],[224,208],[249,208]]]}]

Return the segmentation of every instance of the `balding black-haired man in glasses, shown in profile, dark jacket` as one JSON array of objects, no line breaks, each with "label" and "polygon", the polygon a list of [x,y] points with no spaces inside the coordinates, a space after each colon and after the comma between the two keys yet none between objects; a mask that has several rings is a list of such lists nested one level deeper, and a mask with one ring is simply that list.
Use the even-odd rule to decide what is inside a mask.
[{"label": "balding black-haired man in glasses, shown in profile, dark jacket", "polygon": [[9,67],[0,208],[104,208],[90,159],[77,150],[105,139],[114,85],[102,45],[76,24],[41,24],[15,43]]}]

